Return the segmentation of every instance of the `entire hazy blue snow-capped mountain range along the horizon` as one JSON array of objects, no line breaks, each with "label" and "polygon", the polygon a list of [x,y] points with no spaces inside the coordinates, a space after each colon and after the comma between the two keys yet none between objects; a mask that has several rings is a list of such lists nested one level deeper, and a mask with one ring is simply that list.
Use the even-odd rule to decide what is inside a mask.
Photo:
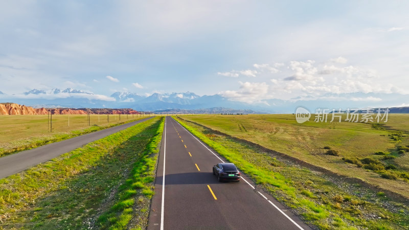
[{"label": "entire hazy blue snow-capped mountain range along the horizon", "polygon": [[33,107],[71,108],[132,108],[137,111],[168,109],[208,109],[222,107],[229,109],[251,109],[267,113],[293,113],[298,106],[313,112],[316,108],[378,108],[402,107],[402,101],[409,101],[409,95],[397,93],[349,93],[327,94],[320,98],[297,97],[290,100],[268,99],[257,103],[233,101],[220,94],[199,96],[186,93],[154,93],[150,96],[130,92],[116,92],[110,96],[93,94],[73,88],[49,90],[32,89],[20,94],[7,95],[0,91],[0,102],[13,102]]}]

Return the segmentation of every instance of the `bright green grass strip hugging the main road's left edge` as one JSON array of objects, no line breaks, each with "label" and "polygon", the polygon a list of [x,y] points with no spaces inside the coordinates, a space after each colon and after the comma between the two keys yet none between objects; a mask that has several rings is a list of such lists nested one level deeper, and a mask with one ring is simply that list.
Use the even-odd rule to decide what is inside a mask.
[{"label": "bright green grass strip hugging the main road's left edge", "polygon": [[[155,179],[164,121],[165,119],[162,119],[156,134],[146,146],[141,158],[134,164],[130,177],[119,188],[118,201],[112,205],[109,211],[99,217],[98,226],[100,228],[126,229],[133,215],[135,215],[133,213],[137,213],[135,216],[137,216],[138,222],[132,227],[138,229],[147,227],[148,210],[154,194],[153,181]],[[138,205],[135,205],[135,203],[138,203]]]}]

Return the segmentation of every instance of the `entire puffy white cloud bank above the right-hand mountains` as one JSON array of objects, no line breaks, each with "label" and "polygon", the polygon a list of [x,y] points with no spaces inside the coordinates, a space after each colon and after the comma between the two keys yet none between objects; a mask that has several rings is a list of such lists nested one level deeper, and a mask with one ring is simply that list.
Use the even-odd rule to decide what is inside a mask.
[{"label": "entire puffy white cloud bank above the right-hand mountains", "polygon": [[[271,98],[290,100],[294,98],[294,95],[308,98],[308,100],[327,100],[324,98],[328,98],[328,94],[409,94],[409,91],[396,87],[391,83],[381,82],[381,78],[375,70],[355,65],[344,66],[347,62],[347,58],[339,56],[328,59],[327,62],[294,60],[287,64],[253,64],[254,68],[258,71],[257,73],[260,74],[260,79],[268,77],[268,75],[263,75],[263,72],[271,70],[272,66],[279,66],[280,75],[289,77],[269,78],[268,80],[271,82],[271,85],[256,82],[239,82],[240,88],[238,90],[225,90],[219,94],[230,100],[247,103],[262,102],[262,100]],[[240,71],[231,71],[229,73],[242,75]],[[377,97],[356,96],[354,98],[344,97],[342,99],[339,96],[333,97],[328,100],[381,101]]]}]

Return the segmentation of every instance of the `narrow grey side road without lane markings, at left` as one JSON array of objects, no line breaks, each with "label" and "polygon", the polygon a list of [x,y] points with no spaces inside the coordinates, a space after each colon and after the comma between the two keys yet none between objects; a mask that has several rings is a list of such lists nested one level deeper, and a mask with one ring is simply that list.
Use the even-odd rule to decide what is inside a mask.
[{"label": "narrow grey side road without lane markings, at left", "polygon": [[0,157],[0,178],[13,175],[40,163],[47,162],[48,160],[61,154],[73,151],[74,149],[80,148],[85,144],[102,139],[105,136],[119,132],[151,118],[153,117],[144,118],[97,132],[76,136],[64,141],[44,145],[35,149]]}]

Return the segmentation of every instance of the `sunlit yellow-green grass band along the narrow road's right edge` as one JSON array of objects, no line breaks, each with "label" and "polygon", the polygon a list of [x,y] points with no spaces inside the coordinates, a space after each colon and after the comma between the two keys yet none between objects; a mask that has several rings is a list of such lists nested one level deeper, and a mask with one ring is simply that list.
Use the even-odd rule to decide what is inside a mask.
[{"label": "sunlit yellow-green grass band along the narrow road's right edge", "polygon": [[0,229],[7,224],[21,222],[17,217],[21,210],[30,209],[37,200],[50,193],[66,189],[61,188],[65,181],[97,167],[103,156],[115,153],[122,143],[148,129],[159,119],[134,125],[49,162],[0,179]]}]

